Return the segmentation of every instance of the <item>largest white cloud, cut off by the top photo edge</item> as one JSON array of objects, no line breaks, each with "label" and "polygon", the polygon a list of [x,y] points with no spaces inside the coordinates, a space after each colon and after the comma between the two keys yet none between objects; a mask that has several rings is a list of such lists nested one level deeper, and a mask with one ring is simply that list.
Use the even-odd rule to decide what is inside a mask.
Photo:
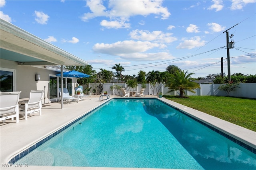
[{"label": "largest white cloud, cut off by the top photo edge", "polygon": [[[88,21],[95,17],[107,17],[110,21],[102,21],[101,25],[108,28],[127,28],[130,27],[129,21],[131,16],[142,15],[148,16],[150,14],[161,15],[161,19],[167,19],[170,16],[168,8],[162,6],[162,0],[138,0],[138,1],[108,1],[108,9],[104,6],[104,1],[88,0],[86,6],[90,8],[91,12],[85,13],[81,19],[82,21]],[[120,24],[123,26],[120,27]],[[122,25],[122,24],[121,24]],[[116,26],[116,27],[114,27]]]}]

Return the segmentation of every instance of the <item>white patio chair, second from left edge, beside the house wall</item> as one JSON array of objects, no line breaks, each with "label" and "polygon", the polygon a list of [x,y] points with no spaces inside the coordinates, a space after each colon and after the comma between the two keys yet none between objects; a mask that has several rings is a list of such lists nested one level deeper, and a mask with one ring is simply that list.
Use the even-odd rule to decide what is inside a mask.
[{"label": "white patio chair, second from left edge, beside the house wall", "polygon": [[42,99],[44,90],[32,90],[30,92],[28,102],[22,102],[20,104],[20,115],[28,119],[28,115],[39,112],[42,114]]}]

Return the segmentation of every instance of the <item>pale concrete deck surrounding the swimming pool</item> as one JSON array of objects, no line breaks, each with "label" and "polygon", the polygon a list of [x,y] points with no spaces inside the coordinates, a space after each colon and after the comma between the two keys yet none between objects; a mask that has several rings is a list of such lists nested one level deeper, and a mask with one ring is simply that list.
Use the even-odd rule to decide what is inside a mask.
[{"label": "pale concrete deck surrounding the swimming pool", "polygon": [[[116,96],[110,96],[110,99]],[[149,97],[149,96],[146,96]],[[156,96],[150,96],[156,97]],[[225,132],[230,137],[234,137],[246,145],[256,149],[256,132],[250,131],[238,125],[234,125],[227,121],[223,121],[206,113],[202,113],[190,107],[172,102],[165,98],[159,98],[165,103],[168,103],[177,109],[185,112],[191,117],[197,117],[200,121],[214,127],[215,129]],[[60,109],[60,103],[45,104],[42,107],[42,115],[31,115],[25,121],[20,117],[19,123],[15,121],[6,121],[0,124],[0,163],[1,169],[21,169],[17,167],[7,168],[5,164],[19,152],[27,149],[34,143],[44,139],[64,125],[76,120],[84,113],[100,106],[108,100],[99,101],[99,96],[93,96],[91,100],[84,100],[78,103],[70,102],[64,104],[64,108]],[[39,170],[39,169],[84,169],[84,170],[101,170],[115,168],[100,168],[100,167],[59,167],[59,166],[28,166],[22,169]],[[120,169],[120,168],[117,168]],[[123,169],[147,169],[147,168],[123,168]],[[149,169],[149,168],[148,168]],[[152,170],[152,168],[150,168]]]}]

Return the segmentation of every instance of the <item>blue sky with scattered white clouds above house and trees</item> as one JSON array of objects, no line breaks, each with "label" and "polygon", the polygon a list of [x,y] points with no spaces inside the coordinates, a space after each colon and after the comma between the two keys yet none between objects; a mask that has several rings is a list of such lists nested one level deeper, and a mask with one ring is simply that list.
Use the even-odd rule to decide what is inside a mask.
[{"label": "blue sky with scattered white clouds above house and trees", "polygon": [[[256,74],[256,0],[0,0],[0,17],[100,68]],[[232,36],[231,36],[232,35]]]}]

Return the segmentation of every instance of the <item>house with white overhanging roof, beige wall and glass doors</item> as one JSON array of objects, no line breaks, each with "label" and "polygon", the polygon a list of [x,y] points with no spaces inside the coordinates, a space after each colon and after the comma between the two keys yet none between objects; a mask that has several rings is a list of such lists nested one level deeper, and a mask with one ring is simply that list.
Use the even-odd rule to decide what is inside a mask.
[{"label": "house with white overhanging roof, beige wall and glass doors", "polygon": [[[64,65],[86,65],[86,61],[0,19],[1,91],[21,91],[29,98],[31,90],[44,90],[42,103],[56,101]],[[39,78],[40,77],[40,78]],[[39,80],[38,80],[39,79]],[[63,78],[63,87],[74,94],[75,78]]]}]

